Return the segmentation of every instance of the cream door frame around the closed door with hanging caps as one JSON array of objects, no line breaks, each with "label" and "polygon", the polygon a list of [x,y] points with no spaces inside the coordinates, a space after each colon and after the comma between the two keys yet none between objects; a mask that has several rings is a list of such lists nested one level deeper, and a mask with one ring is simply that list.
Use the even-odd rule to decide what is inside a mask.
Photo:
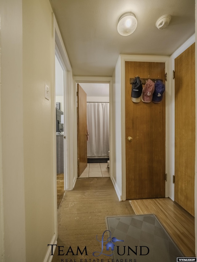
[{"label": "cream door frame around the closed door with hanging caps", "polygon": [[[122,196],[121,199],[126,200],[126,146],[125,146],[125,62],[133,61],[133,62],[164,62],[165,63],[165,71],[167,73],[167,81],[165,82],[166,91],[166,173],[169,171],[169,161],[170,161],[170,131],[171,125],[169,125],[170,118],[170,58],[167,56],[143,56],[143,55],[120,55],[121,59],[121,161],[122,161]],[[170,179],[167,178],[165,182],[165,197],[168,197],[168,184]]]}]

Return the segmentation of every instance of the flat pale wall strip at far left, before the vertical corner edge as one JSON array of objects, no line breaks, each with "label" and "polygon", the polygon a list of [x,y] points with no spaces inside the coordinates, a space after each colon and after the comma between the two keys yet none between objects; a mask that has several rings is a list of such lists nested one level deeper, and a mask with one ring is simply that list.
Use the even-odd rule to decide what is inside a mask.
[{"label": "flat pale wall strip at far left, before the vertical corner edge", "polygon": [[4,250],[26,261],[23,169],[22,0],[1,1],[1,125]]}]

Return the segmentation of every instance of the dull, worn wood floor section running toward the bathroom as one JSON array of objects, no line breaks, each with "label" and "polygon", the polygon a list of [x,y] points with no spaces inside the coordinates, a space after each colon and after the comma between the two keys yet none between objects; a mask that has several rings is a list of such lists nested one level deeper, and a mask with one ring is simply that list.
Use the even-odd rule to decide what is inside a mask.
[{"label": "dull, worn wood floor section running toward the bathroom", "polygon": [[[113,184],[108,177],[77,179],[72,191],[66,191],[58,208],[58,244],[61,246],[55,250],[53,262],[66,261],[85,262],[88,258],[93,260],[99,258],[108,261],[108,257],[101,255],[92,256],[95,251],[101,251],[101,243],[96,240],[102,239],[103,232],[107,230],[105,217],[109,215],[135,214],[129,201],[119,202]],[[64,246],[64,247],[62,247]],[[73,256],[72,252],[66,253],[69,247],[76,254],[77,247],[85,252],[79,256]],[[71,251],[71,250],[69,250]],[[64,254],[65,253],[65,254]],[[64,254],[64,256],[60,255]]]}]

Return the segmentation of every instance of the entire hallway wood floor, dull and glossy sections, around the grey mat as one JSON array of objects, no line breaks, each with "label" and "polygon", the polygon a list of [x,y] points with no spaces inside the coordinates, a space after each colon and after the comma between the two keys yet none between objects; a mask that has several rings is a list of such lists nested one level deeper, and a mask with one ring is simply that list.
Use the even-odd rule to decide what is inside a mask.
[{"label": "entire hallway wood floor, dull and glossy sections, around the grey mat", "polygon": [[[63,184],[59,177],[59,185]],[[63,185],[59,187],[63,189]],[[63,191],[64,193],[64,191]],[[59,194],[61,196],[61,193]],[[106,227],[106,216],[124,214],[148,214],[154,213],[169,235],[179,246],[185,256],[195,256],[195,226],[194,217],[169,198],[128,200],[119,202],[113,184],[108,177],[77,179],[72,191],[66,191],[60,200],[58,208],[58,246],[66,254],[69,247],[76,253],[77,246],[83,249],[85,246],[89,256],[77,256],[80,259],[94,259],[94,251],[101,251],[101,240]],[[135,211],[134,211],[135,210]],[[60,254],[63,253],[62,251]],[[58,247],[53,256],[53,262],[74,262],[76,256],[69,252],[67,256],[58,255]],[[63,259],[63,260],[61,260]],[[108,257],[99,256],[99,262],[108,261]],[[67,260],[67,262],[70,262]],[[89,260],[88,260],[89,262]]]}]

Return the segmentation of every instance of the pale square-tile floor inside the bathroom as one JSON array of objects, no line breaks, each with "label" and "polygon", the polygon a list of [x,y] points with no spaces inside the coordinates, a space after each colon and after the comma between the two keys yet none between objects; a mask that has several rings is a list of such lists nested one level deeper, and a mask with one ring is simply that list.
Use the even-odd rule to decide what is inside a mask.
[{"label": "pale square-tile floor inside the bathroom", "polygon": [[88,163],[86,169],[81,174],[82,177],[109,177],[107,163]]}]

